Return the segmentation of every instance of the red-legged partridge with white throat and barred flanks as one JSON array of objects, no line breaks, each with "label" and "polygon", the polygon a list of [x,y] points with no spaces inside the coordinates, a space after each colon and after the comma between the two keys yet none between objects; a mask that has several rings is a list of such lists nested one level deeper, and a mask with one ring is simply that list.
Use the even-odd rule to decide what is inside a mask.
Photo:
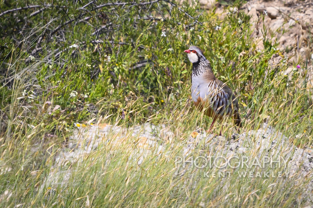
[{"label": "red-legged partridge with white throat and barred flanks", "polygon": [[[241,127],[238,101],[232,90],[218,80],[213,74],[210,62],[204,57],[197,46],[190,46],[184,52],[192,63],[191,96],[193,104],[200,110],[206,109],[205,114],[213,118],[208,130],[212,130],[217,119],[232,117],[234,123]],[[221,134],[221,133],[220,133]]]}]

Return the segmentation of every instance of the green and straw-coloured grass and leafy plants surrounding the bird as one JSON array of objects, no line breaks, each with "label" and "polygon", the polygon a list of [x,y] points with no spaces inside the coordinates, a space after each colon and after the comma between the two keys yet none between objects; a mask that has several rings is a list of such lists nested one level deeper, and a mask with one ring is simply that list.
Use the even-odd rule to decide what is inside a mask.
[{"label": "green and straw-coloured grass and leafy plants surrounding the bird", "polygon": [[[243,119],[241,133],[257,130],[267,121],[290,143],[311,147],[312,101],[307,80],[300,71],[289,80],[282,73],[287,68],[283,62],[269,67],[270,58],[278,53],[273,49],[276,45],[265,31],[265,49],[256,50],[249,16],[239,10],[220,20],[213,11],[203,12],[197,5],[178,7],[165,1],[100,9],[90,4],[88,11],[80,9],[87,1],[75,2],[59,1],[34,16],[31,14],[39,8],[0,17],[1,207],[305,204],[306,199],[298,204],[296,198],[309,177],[297,183],[293,178],[287,182],[239,180],[236,172],[228,181],[204,178],[204,170],[186,169],[180,177],[174,174],[175,157],[190,134],[197,128],[207,129],[211,121],[189,100],[191,66],[183,51],[191,44],[204,50],[214,73],[236,91]],[[32,0],[28,5],[41,3]],[[25,6],[24,1],[0,3],[1,11]],[[84,18],[90,18],[63,25],[83,12],[87,12]],[[158,19],[144,18],[147,15]],[[59,25],[60,30],[53,33]],[[105,26],[103,33],[94,35],[101,26]],[[215,30],[216,26],[221,29]],[[32,54],[43,33],[42,50]],[[171,141],[161,139],[164,152],[156,155],[152,149],[141,165],[129,160],[129,150],[136,146],[128,136],[126,143],[99,147],[82,163],[70,164],[75,171],[65,186],[45,184],[55,157],[68,148],[74,123],[92,119],[93,123],[127,128],[146,122],[165,124],[174,136]],[[217,124],[214,131],[219,129]],[[233,133],[232,124],[226,123],[225,137]],[[207,149],[203,141],[199,145],[193,156]],[[4,171],[6,168],[10,171]]]}]

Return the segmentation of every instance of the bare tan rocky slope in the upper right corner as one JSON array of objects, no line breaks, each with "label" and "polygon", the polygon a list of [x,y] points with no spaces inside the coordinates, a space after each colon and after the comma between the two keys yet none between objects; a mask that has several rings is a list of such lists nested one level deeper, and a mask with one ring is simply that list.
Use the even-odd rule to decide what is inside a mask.
[{"label": "bare tan rocky slope in the upper right corner", "polygon": [[[223,19],[228,8],[216,0],[200,0],[204,9],[217,7],[216,13]],[[313,0],[252,0],[242,8],[251,18],[253,36],[257,49],[264,49],[264,28],[266,37],[278,43],[277,53],[270,60],[271,67],[288,65],[283,73],[288,74],[298,64],[300,73],[307,80],[307,88],[313,87]],[[237,8],[231,8],[233,12]],[[263,21],[264,17],[264,21]]]}]

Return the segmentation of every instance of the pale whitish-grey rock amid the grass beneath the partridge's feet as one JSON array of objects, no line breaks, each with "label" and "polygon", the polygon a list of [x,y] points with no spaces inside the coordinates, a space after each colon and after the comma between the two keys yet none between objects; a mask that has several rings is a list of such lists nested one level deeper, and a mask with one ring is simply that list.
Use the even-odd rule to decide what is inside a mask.
[{"label": "pale whitish-grey rock amid the grass beneath the partridge's feet", "polygon": [[[139,165],[151,157],[151,151],[157,154],[166,153],[165,143],[172,142],[175,134],[165,125],[155,126],[150,123],[137,125],[131,128],[121,128],[110,124],[95,124],[89,127],[79,127],[69,140],[68,148],[64,148],[56,157],[56,162],[51,169],[50,175],[46,181],[47,186],[57,186],[59,177],[62,176],[63,185],[71,175],[69,164],[80,164],[84,158],[92,155],[93,152],[99,151],[101,148],[110,146],[111,148],[124,148],[127,143],[130,152],[130,160],[137,162]],[[133,143],[129,143],[129,141]],[[233,135],[232,139],[223,136],[214,136],[205,132],[195,131],[189,138],[182,141],[183,149],[181,155],[187,156],[189,153],[199,148],[201,141],[205,141],[205,147],[208,149],[209,155],[212,157],[230,156],[241,157],[243,155],[257,155],[261,157],[278,158],[278,156],[288,160],[286,172],[289,176],[293,175],[294,185],[300,185],[303,180],[301,178],[313,177],[313,157],[312,149],[301,149],[290,143],[289,138],[282,133],[275,131],[266,123],[257,131],[251,130],[239,135]],[[176,147],[172,147],[176,148]],[[149,157],[148,157],[149,156]],[[63,171],[60,171],[63,169]],[[184,174],[185,169],[177,170],[179,174]],[[176,174],[177,174],[176,172]],[[288,177],[286,177],[286,180]],[[48,185],[49,184],[49,185]],[[304,194],[301,197],[308,197],[309,204],[313,204],[313,182],[311,181]],[[308,206],[309,207],[309,206]]]}]

